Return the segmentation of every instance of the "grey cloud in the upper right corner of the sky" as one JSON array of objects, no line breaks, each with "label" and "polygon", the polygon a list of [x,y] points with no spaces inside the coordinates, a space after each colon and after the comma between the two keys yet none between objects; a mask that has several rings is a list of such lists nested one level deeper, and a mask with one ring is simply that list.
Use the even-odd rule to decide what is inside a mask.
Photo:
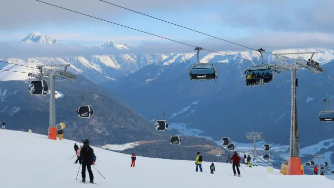
[{"label": "grey cloud in the upper right corner of the sky", "polygon": [[225,8],[221,21],[233,27],[258,31],[334,32],[334,0],[234,0],[226,5],[234,8]]}]

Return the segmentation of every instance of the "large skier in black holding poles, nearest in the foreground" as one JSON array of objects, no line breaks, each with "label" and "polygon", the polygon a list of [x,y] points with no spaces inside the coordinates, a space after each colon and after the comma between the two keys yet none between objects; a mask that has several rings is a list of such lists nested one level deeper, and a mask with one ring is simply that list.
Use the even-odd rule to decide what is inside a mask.
[{"label": "large skier in black holding poles, nearest in the foreground", "polygon": [[82,177],[82,182],[85,183],[86,180],[86,167],[87,171],[89,174],[89,183],[94,184],[94,175],[91,169],[92,161],[94,157],[94,150],[91,146],[89,146],[89,140],[86,139],[84,141],[84,146],[80,150],[80,156],[79,156],[79,161],[80,164],[82,165],[82,171],[81,171],[81,177]]}]

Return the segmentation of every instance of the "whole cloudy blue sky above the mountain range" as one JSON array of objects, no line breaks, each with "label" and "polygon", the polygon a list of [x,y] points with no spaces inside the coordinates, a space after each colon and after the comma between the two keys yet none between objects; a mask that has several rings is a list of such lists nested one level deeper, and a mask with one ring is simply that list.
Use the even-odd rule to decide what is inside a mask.
[{"label": "whole cloudy blue sky above the mountain range", "polygon": [[[100,0],[42,1],[191,46],[247,50]],[[251,48],[334,47],[334,0],[105,1]],[[38,31],[62,44],[101,45],[113,40],[154,46],[146,51],[193,51],[193,47],[36,0],[1,0],[0,7],[0,49]]]}]

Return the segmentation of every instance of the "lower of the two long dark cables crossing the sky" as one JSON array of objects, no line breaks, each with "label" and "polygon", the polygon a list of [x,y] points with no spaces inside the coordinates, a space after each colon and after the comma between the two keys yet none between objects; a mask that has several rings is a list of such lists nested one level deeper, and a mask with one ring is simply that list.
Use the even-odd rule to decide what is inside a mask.
[{"label": "lower of the two long dark cables crossing the sky", "polygon": [[[182,42],[179,42],[179,41],[175,41],[173,39],[168,39],[166,37],[162,37],[162,36],[159,36],[159,35],[155,35],[155,34],[152,34],[152,33],[148,33],[148,32],[145,32],[145,31],[142,31],[142,30],[139,30],[139,29],[135,29],[135,28],[132,28],[132,27],[128,27],[128,26],[125,26],[125,25],[121,25],[121,24],[118,24],[118,23],[115,23],[115,22],[111,22],[111,21],[108,21],[108,20],[104,20],[104,19],[101,19],[101,18],[97,18],[95,16],[91,16],[91,15],[88,15],[88,14],[84,14],[84,13],[81,13],[81,12],[77,12],[75,10],[70,10],[70,9],[67,9],[67,8],[64,8],[64,7],[61,7],[61,6],[57,6],[57,5],[54,5],[54,4],[50,4],[48,2],[44,2],[44,1],[41,1],[41,0],[36,0],[36,1],[39,1],[39,2],[42,2],[42,3],[45,3],[45,4],[48,4],[48,5],[51,5],[51,6],[55,6],[55,7],[58,7],[58,8],[62,8],[64,10],[68,10],[68,11],[71,11],[71,12],[75,12],[75,13],[78,13],[78,14],[82,14],[82,15],[85,15],[85,16],[88,16],[88,17],[91,17],[91,18],[95,18],[95,19],[98,19],[98,20],[101,20],[101,21],[105,21],[105,22],[108,22],[108,23],[112,23],[112,24],[115,24],[115,25],[118,25],[118,26],[122,26],[122,27],[126,27],[126,28],[129,28],[129,29],[132,29],[132,30],[136,30],[136,31],[139,31],[139,32],[142,32],[142,33],[146,33],[146,34],[149,34],[149,35],[152,35],[152,36],[155,36],[155,37],[159,37],[159,38],[162,38],[162,39],[166,39],[166,40],[169,40],[169,41],[173,41],[173,42],[176,42],[176,43],[180,43],[180,44],[183,44],[183,45],[186,45],[186,46],[190,46],[190,47],[195,47],[193,45],[189,45],[189,44],[186,44],[186,43],[182,43]],[[251,61],[251,62],[254,62],[254,63],[259,63],[261,64],[260,62],[257,62],[257,61],[252,61],[252,60],[249,60],[249,59],[244,59],[244,58],[241,58],[241,57],[237,57],[237,56],[233,56],[233,55],[229,55],[229,54],[225,54],[225,53],[221,53],[221,52],[217,52],[217,51],[213,51],[213,50],[209,50],[209,49],[205,49],[205,48],[202,48],[203,50],[206,50],[206,51],[210,51],[210,52],[214,52],[214,53],[219,53],[219,54],[223,54],[223,55],[227,55],[227,56],[231,56],[231,57],[234,57],[234,58],[239,58],[239,59],[243,59],[243,60],[246,60],[246,61]]]}]

